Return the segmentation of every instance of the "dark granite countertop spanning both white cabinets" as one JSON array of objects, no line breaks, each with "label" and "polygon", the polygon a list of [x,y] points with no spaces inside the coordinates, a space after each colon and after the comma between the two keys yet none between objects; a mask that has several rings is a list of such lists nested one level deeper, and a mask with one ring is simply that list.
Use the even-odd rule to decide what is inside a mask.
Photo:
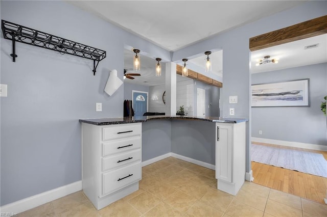
[{"label": "dark granite countertop spanning both white cabinets", "polygon": [[210,122],[220,122],[220,123],[240,123],[246,122],[249,119],[246,118],[223,118],[223,117],[196,117],[196,116],[136,116],[136,117],[124,117],[124,118],[90,118],[90,119],[80,119],[81,123],[88,123],[94,125],[111,125],[111,124],[127,124],[127,123],[138,123],[146,122],[148,120],[159,120],[159,119],[183,119],[183,120],[202,120]]}]

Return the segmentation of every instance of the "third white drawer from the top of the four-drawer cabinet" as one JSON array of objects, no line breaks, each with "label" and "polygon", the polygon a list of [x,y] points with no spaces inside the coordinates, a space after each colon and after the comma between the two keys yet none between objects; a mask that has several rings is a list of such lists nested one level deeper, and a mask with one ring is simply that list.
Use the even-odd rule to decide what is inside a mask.
[{"label": "third white drawer from the top of the four-drawer cabinet", "polygon": [[139,160],[141,162],[141,149],[116,154],[102,159],[102,172],[131,164]]}]

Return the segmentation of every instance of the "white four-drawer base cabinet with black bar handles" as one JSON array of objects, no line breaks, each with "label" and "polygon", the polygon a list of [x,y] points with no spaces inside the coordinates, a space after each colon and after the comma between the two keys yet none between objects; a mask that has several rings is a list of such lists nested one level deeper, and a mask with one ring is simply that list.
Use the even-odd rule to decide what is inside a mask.
[{"label": "white four-drawer base cabinet with black bar handles", "polygon": [[99,210],[138,189],[142,123],[82,123],[83,192]]}]

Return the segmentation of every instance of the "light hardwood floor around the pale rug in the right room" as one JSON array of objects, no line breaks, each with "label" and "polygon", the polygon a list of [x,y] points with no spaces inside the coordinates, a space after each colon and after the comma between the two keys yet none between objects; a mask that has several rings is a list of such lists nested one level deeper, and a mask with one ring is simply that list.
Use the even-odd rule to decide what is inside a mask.
[{"label": "light hardwood floor around the pale rug in the right room", "polygon": [[[321,153],[327,160],[327,151],[316,151],[255,142],[253,142],[253,144]],[[326,198],[327,178],[260,164],[254,161],[251,161],[251,165],[254,183],[325,204],[323,198]]]}]

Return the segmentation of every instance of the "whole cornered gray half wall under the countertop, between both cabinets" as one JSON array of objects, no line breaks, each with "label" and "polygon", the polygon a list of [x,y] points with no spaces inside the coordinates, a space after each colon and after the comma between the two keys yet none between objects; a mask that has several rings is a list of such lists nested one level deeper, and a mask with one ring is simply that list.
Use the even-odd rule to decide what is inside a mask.
[{"label": "whole cornered gray half wall under the countertop, between both cabinets", "polygon": [[215,165],[215,126],[200,120],[148,120],[142,123],[142,161],[172,152]]}]

